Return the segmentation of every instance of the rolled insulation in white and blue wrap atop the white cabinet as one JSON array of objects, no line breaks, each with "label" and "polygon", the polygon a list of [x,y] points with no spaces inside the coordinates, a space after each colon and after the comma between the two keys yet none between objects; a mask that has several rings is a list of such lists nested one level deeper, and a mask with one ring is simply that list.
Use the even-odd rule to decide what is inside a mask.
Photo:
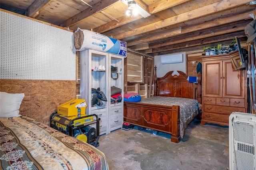
[{"label": "rolled insulation in white and blue wrap atop the white cabinet", "polygon": [[74,35],[76,51],[92,49],[127,56],[127,43],[89,30],[78,28]]}]

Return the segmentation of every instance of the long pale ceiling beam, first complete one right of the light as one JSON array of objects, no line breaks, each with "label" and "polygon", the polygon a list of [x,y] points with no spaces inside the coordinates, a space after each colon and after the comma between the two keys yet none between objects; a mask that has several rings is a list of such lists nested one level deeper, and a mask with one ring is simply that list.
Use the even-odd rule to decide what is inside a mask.
[{"label": "long pale ceiling beam, first complete one right of the light", "polygon": [[223,10],[234,8],[234,7],[246,4],[248,2],[250,2],[250,0],[235,0],[232,2],[230,2],[230,0],[223,0],[223,1],[216,2],[213,4],[207,5],[207,6],[203,6],[201,8],[197,8],[195,10],[191,10],[189,12],[185,12],[183,14],[179,14],[179,15],[176,15],[176,16],[173,16],[170,18],[166,18],[165,20],[154,22],[154,23],[148,24],[146,26],[142,26],[140,28],[136,28],[136,29],[133,29],[130,31],[126,31],[124,33],[113,35],[113,37],[118,40],[122,40],[122,39],[130,37],[130,36],[136,36],[138,34],[142,34],[145,32],[150,32],[150,31],[153,31],[156,29],[164,28],[167,26],[171,26],[174,24],[188,21],[188,20],[196,19],[196,18],[206,16],[209,14],[213,14],[215,12],[220,12]]}]

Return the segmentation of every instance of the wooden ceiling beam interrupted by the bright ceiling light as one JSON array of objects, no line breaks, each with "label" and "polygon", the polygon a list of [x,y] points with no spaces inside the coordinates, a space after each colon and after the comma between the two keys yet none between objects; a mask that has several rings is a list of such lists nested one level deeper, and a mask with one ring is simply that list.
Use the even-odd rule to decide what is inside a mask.
[{"label": "wooden ceiling beam interrupted by the bright ceiling light", "polygon": [[[148,6],[148,13],[150,14],[155,14],[156,12],[160,12],[162,10],[166,10],[168,8],[171,8],[173,6],[182,4],[184,2],[187,2],[188,0],[168,0],[168,1],[159,1],[159,2],[155,2],[154,4]],[[141,4],[138,2],[138,0],[136,1],[136,3],[138,3],[142,8],[146,8],[145,5]],[[104,33],[106,31],[112,30],[116,27],[119,26],[123,26],[127,23],[133,22],[135,20],[138,20],[140,18],[143,18],[142,16],[136,16],[136,17],[129,17],[127,18],[126,16],[118,18],[117,20],[119,22],[116,21],[112,21],[112,22],[108,22],[107,24],[104,24],[102,26],[99,26],[97,28],[94,28],[93,31],[94,32],[98,32],[98,33]]]}]

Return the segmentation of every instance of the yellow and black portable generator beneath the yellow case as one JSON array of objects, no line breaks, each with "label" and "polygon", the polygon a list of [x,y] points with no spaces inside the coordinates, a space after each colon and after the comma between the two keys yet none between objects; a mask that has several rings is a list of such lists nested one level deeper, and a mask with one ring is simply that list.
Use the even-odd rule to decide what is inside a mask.
[{"label": "yellow and black portable generator beneath the yellow case", "polygon": [[[100,118],[97,115],[81,115],[81,117],[60,115],[57,112],[52,113],[52,128],[87,142],[95,147],[99,146],[100,137]],[[96,124],[96,129],[89,125]]]}]

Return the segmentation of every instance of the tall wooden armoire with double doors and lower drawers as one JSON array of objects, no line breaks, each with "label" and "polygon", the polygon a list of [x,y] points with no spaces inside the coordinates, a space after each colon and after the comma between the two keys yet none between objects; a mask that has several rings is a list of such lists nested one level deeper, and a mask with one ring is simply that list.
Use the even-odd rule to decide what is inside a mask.
[{"label": "tall wooden armoire with double doors and lower drawers", "polygon": [[232,112],[247,111],[246,69],[233,71],[229,55],[202,56],[202,120],[228,126]]}]

